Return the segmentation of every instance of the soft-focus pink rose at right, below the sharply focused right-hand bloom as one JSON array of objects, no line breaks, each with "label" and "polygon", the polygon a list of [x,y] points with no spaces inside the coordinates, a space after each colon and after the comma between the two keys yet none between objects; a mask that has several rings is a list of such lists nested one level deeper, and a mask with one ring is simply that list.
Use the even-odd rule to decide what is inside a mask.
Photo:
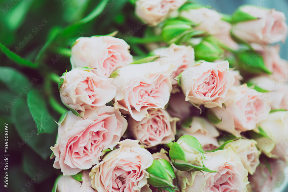
[{"label": "soft-focus pink rose at right, below the sharply focused right-hand bloom", "polygon": [[235,87],[236,95],[227,100],[225,107],[210,109],[221,122],[215,126],[229,132],[236,137],[240,133],[256,128],[256,124],[266,119],[270,112],[270,105],[264,94],[247,87],[247,84]]}]

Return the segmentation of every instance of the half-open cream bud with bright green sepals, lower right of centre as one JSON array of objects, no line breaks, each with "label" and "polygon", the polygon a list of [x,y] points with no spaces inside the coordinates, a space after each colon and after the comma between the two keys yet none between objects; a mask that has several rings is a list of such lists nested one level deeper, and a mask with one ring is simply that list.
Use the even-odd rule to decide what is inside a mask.
[{"label": "half-open cream bud with bright green sepals, lower right of centre", "polygon": [[181,171],[203,170],[210,171],[203,166],[203,149],[200,142],[193,136],[181,136],[169,150],[173,166]]}]

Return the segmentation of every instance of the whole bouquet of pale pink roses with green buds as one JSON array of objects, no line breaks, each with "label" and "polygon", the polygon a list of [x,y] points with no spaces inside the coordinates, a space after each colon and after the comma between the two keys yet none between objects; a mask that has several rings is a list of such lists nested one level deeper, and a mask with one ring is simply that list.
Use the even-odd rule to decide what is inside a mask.
[{"label": "whole bouquet of pale pink roses with green buds", "polygon": [[71,71],[54,78],[68,109],[50,148],[62,172],[53,191],[273,191],[288,162],[285,15],[130,4],[145,54],[118,31],[79,37]]}]

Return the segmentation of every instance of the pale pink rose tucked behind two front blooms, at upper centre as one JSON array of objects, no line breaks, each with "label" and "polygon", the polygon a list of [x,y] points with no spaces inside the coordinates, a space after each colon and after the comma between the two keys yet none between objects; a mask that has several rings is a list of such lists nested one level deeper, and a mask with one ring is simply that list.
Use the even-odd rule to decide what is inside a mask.
[{"label": "pale pink rose tucked behind two front blooms, at upper centre", "polygon": [[153,52],[160,56],[157,60],[160,64],[172,63],[173,69],[170,74],[172,85],[178,83],[174,78],[195,62],[194,49],[191,46],[175,45],[173,43],[169,47],[158,48]]}]

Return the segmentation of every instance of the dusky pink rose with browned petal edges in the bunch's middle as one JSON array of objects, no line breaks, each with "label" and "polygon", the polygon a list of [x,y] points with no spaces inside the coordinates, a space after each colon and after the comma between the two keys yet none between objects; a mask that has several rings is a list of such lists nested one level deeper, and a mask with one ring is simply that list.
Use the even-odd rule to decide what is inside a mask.
[{"label": "dusky pink rose with browned petal edges in the bunch's middle", "polygon": [[141,121],[128,119],[132,136],[145,148],[174,141],[178,118],[171,117],[164,109],[149,109],[148,114]]}]

